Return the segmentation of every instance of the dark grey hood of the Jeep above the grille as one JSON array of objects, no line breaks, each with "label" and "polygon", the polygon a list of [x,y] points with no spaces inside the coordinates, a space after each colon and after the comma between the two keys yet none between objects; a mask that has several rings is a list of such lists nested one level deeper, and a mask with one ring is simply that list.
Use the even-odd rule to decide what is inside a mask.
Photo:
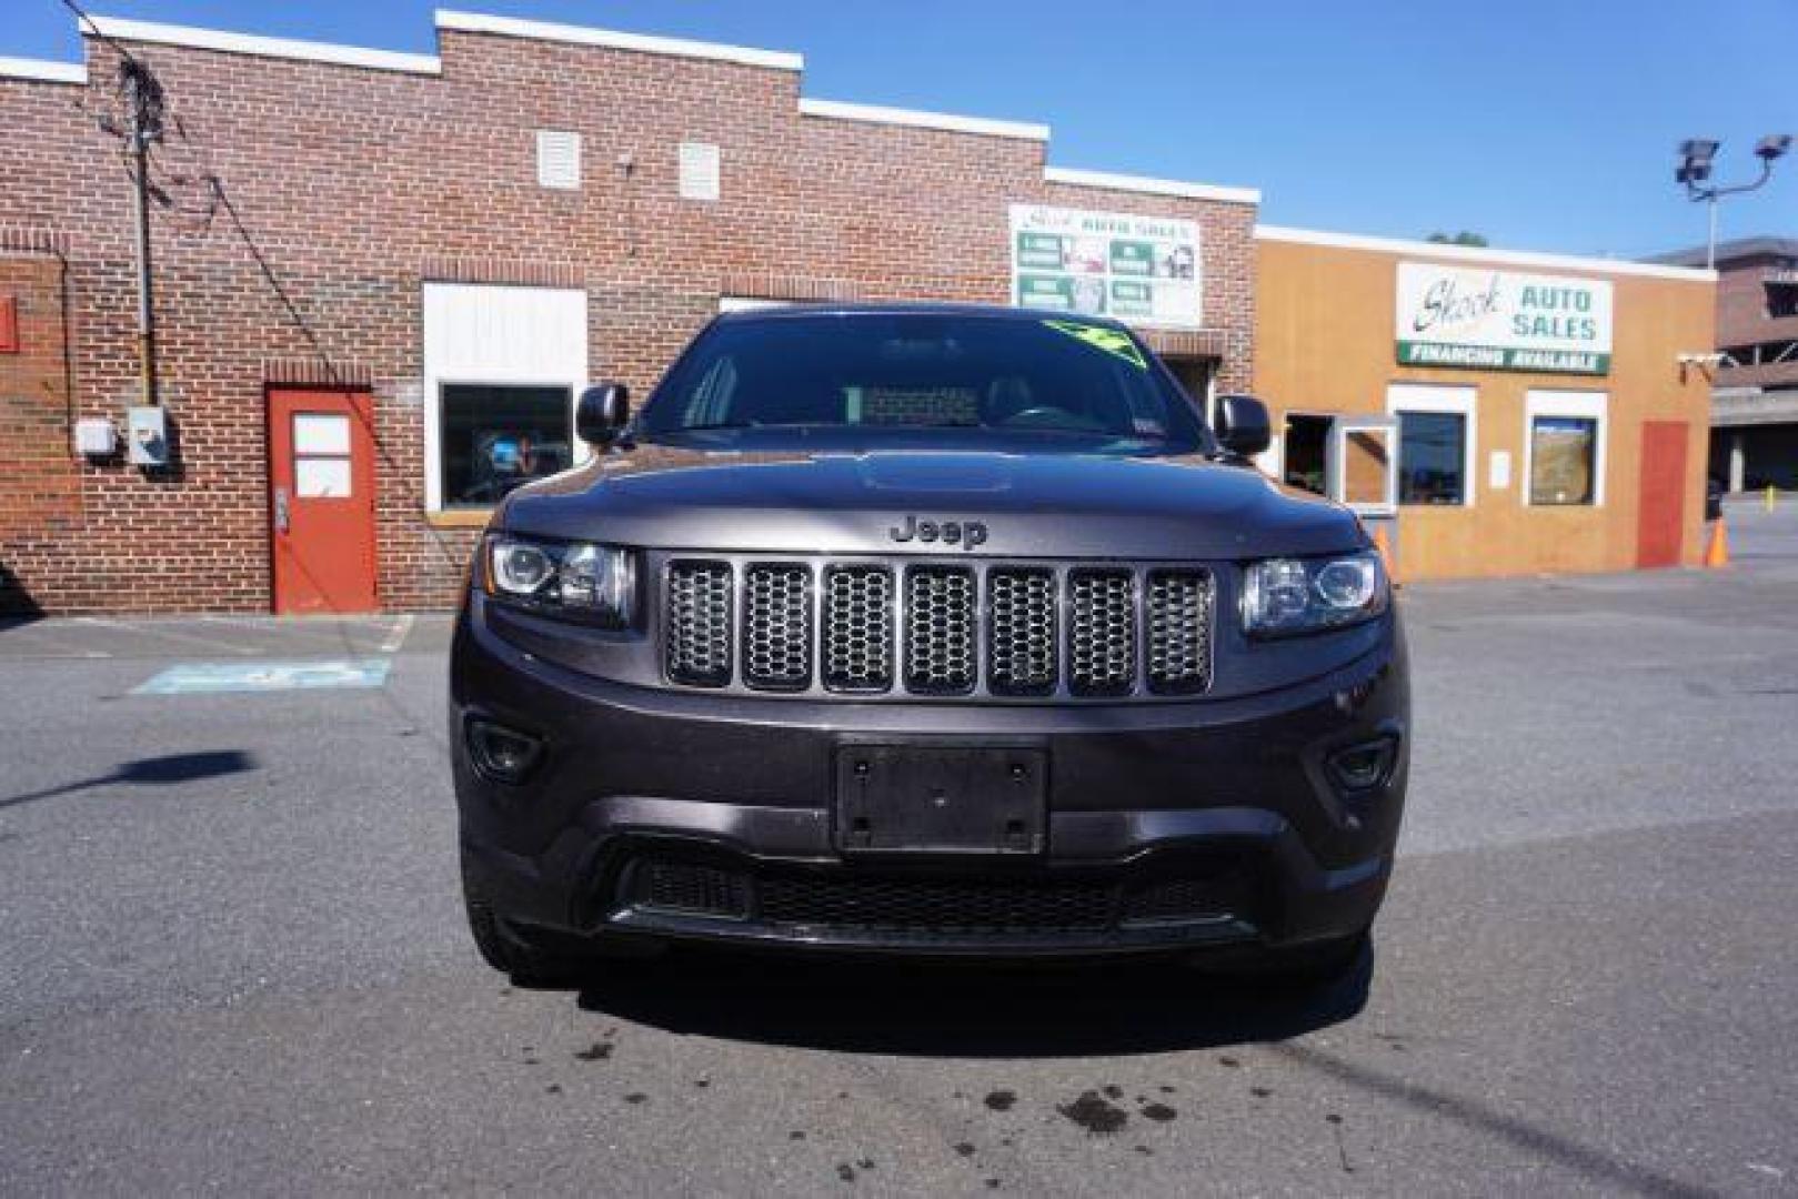
[{"label": "dark grey hood of the Jeep above the grille", "polygon": [[[978,548],[899,541],[980,521]],[[1354,516],[1203,457],[1000,451],[613,451],[505,502],[496,527],[645,548],[1237,559],[1359,546]]]}]

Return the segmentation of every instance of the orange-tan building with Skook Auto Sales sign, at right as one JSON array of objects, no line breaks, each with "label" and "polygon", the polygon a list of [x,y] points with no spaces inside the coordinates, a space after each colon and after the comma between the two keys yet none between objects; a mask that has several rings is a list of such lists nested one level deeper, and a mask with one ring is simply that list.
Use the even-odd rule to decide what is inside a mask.
[{"label": "orange-tan building with Skook Auto Sales sign, at right", "polygon": [[1264,467],[1401,577],[1703,555],[1712,271],[1260,226],[1255,306]]}]

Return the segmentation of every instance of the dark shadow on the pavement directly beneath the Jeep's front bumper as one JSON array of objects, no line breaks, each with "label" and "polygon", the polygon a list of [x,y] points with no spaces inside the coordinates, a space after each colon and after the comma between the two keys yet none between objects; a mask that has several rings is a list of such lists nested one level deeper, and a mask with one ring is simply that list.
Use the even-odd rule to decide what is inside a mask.
[{"label": "dark shadow on the pavement directly beneath the Jeep's front bumper", "polygon": [[1286,1041],[1366,1007],[1374,953],[1284,989],[1178,962],[953,964],[692,953],[608,962],[588,1012],[674,1034],[931,1057],[1115,1057]]}]

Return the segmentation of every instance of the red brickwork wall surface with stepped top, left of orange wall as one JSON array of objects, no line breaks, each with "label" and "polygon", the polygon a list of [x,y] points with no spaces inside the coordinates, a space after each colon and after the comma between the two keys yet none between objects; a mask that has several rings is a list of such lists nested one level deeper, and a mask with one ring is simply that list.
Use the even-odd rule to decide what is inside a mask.
[{"label": "red brickwork wall surface with stepped top, left of orange wall", "polygon": [[[426,279],[583,286],[592,376],[644,394],[725,293],[1005,302],[1009,203],[1185,218],[1203,230],[1219,383],[1250,383],[1255,209],[1048,183],[1036,140],[807,117],[797,72],[498,34],[441,31],[441,75],[131,50],[198,147],[171,142],[167,171],[223,178],[336,376],[374,394],[392,609],[451,602],[476,536],[423,512]],[[115,67],[88,40],[88,86],[0,79],[4,128],[29,131],[9,144],[0,226],[67,244],[67,266],[50,259],[74,329],[63,406],[122,419],[135,386],[129,185],[92,119],[111,102]],[[579,191],[538,187],[539,128],[583,135]],[[721,147],[716,203],[678,198],[683,140]],[[185,209],[205,201],[200,187],[171,191]],[[45,270],[40,259],[27,261]],[[228,216],[201,228],[158,214],[155,259],[178,469],[74,462],[67,421],[52,422],[65,491],[52,502],[0,482],[0,604],[270,608],[264,388],[331,372]]]}]

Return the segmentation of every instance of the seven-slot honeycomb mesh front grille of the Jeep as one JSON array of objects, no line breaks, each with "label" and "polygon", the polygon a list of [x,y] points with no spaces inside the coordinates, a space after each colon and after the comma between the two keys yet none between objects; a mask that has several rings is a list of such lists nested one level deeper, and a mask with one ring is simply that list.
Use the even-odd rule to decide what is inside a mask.
[{"label": "seven-slot honeycomb mesh front grille of the Jeep", "polygon": [[1203,566],[676,557],[663,595],[681,687],[1117,699],[1212,685]]}]

